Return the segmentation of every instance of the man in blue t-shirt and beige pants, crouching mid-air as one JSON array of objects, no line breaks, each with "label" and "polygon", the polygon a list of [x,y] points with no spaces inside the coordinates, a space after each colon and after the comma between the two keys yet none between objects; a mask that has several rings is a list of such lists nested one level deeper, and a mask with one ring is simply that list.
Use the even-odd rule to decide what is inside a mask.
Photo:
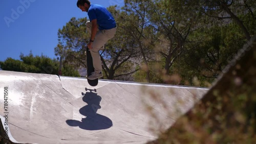
[{"label": "man in blue t-shirt and beige pants, crouching mid-air", "polygon": [[87,31],[91,34],[87,46],[93,58],[94,73],[88,79],[98,79],[103,77],[99,50],[104,49],[104,44],[114,37],[116,21],[106,8],[91,4],[89,0],[78,0],[77,7],[87,12],[90,19],[86,22]]}]

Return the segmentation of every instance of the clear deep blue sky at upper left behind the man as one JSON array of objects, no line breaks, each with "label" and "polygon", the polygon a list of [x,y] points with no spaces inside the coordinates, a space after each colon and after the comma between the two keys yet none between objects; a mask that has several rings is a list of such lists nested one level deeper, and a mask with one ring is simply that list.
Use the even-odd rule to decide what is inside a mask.
[{"label": "clear deep blue sky at upper left behind the man", "polygon": [[[72,18],[87,17],[77,0],[1,0],[0,61],[19,60],[20,53],[56,58],[57,32]],[[91,0],[104,7],[123,6],[123,0]]]}]

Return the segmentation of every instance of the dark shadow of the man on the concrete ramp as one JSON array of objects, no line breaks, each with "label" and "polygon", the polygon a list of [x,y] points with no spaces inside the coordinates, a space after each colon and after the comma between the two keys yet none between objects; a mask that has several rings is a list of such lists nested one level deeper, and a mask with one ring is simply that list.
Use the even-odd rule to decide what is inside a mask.
[{"label": "dark shadow of the man on the concrete ramp", "polygon": [[100,109],[101,97],[97,93],[87,92],[84,94],[82,100],[88,105],[80,108],[79,112],[86,116],[81,121],[68,119],[66,123],[71,127],[79,127],[84,130],[102,130],[109,129],[113,126],[110,118],[98,114],[97,110]]}]

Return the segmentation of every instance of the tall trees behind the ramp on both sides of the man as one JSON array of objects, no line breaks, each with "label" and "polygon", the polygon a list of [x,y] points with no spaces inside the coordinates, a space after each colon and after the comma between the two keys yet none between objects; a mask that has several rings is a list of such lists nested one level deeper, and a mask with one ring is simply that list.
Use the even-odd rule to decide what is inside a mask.
[{"label": "tall trees behind the ramp on both sides of the man", "polygon": [[[118,27],[100,53],[105,79],[209,86],[255,34],[252,0],[127,0],[108,9]],[[58,31],[55,54],[75,68],[86,67],[87,20]]]}]

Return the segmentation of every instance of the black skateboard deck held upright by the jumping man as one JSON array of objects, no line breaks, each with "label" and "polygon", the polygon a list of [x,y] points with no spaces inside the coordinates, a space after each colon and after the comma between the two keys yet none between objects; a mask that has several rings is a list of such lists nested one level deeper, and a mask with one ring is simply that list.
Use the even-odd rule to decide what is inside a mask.
[{"label": "black skateboard deck held upright by the jumping man", "polygon": [[[87,46],[86,46],[86,55],[87,55],[87,77],[89,77],[94,72],[94,67],[93,67],[93,58]],[[95,79],[95,80],[87,79],[87,81],[89,85],[96,86],[98,85],[99,79]]]}]

